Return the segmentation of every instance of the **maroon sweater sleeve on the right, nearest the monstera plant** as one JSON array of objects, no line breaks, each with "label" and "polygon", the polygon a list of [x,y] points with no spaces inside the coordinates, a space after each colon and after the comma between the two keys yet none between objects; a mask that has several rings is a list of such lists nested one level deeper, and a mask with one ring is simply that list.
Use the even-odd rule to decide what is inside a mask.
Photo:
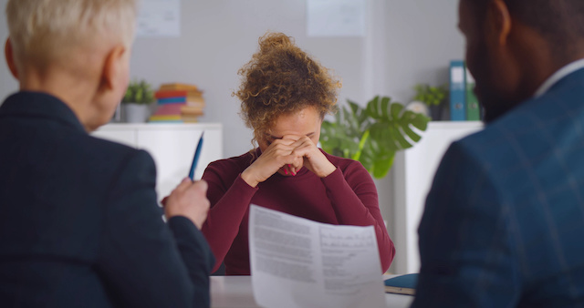
[{"label": "maroon sweater sleeve on the right, nearest the monstera plant", "polygon": [[338,167],[322,182],[340,224],[375,228],[381,270],[386,272],[395,255],[395,247],[381,217],[377,190],[369,172],[355,161],[342,171]]}]

